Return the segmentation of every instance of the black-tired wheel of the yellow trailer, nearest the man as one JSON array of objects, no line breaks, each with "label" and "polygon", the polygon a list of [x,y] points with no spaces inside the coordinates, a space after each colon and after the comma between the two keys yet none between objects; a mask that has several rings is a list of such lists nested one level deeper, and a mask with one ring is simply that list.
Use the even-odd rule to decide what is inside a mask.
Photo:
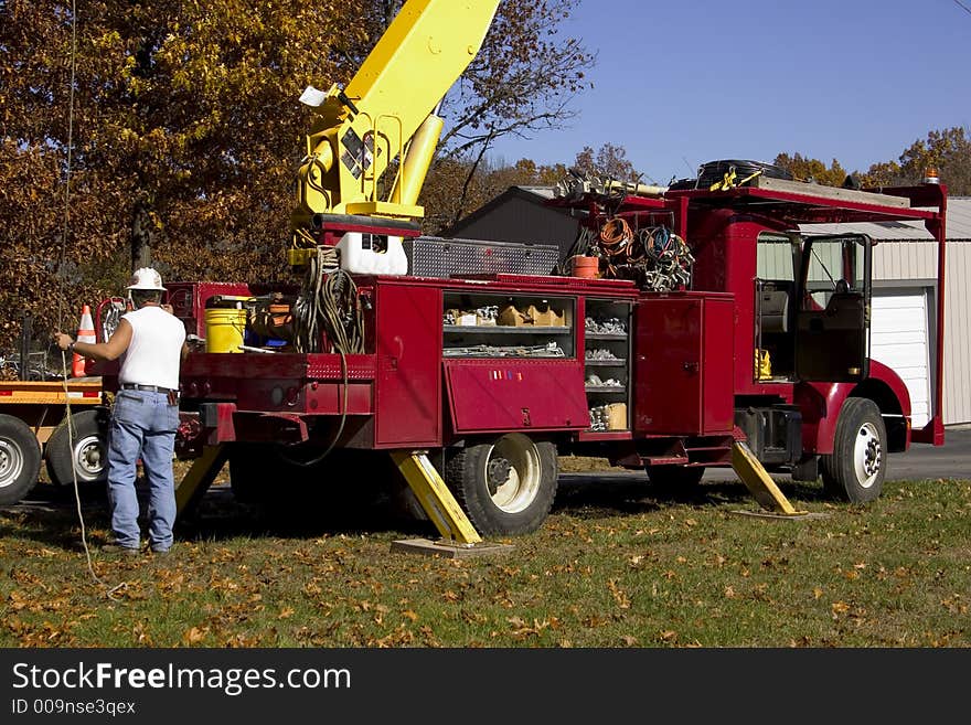
[{"label": "black-tired wheel of the yellow trailer, nearest the man", "polygon": [[104,483],[108,480],[107,416],[104,411],[94,409],[75,413],[71,419],[74,430],[68,431],[65,419],[44,446],[44,465],[51,482],[74,486],[76,472],[78,483]]}]

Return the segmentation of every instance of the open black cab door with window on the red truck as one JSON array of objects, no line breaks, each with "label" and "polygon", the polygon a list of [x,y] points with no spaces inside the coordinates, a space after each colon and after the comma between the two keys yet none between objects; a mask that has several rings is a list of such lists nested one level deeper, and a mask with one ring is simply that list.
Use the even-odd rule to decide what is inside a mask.
[{"label": "open black cab door with window on the red truck", "polygon": [[796,377],[854,382],[869,373],[873,241],[807,236],[797,276]]}]

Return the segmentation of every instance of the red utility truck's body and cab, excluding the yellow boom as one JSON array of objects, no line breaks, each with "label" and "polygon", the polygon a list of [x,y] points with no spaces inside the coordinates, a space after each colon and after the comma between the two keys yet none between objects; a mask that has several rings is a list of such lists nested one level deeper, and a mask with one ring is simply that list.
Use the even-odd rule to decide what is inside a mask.
[{"label": "red utility truck's body and cab, excluding the yellow boom", "polygon": [[[873,242],[798,227],[921,220],[942,266],[943,188],[874,194],[766,178],[628,195],[610,215],[594,196],[583,203],[598,234],[623,218],[634,235],[669,230],[687,241],[690,285],[650,291],[637,280],[481,269],[352,275],[360,352],[190,355],[182,454],[224,446],[234,489],[273,497],[282,480],[353,487],[369,452],[430,450],[474,526],[510,534],[546,516],[557,452],[691,484],[705,468],[730,466],[745,438],[768,470],[821,475],[832,493],[864,502],[879,495],[888,454],[942,444],[940,370],[933,415],[911,430],[906,386],[867,356]],[[462,243],[416,235],[412,244],[441,257]],[[495,246],[481,243],[483,264]],[[242,284],[169,289],[175,313],[199,332],[207,301],[252,297]]]}]

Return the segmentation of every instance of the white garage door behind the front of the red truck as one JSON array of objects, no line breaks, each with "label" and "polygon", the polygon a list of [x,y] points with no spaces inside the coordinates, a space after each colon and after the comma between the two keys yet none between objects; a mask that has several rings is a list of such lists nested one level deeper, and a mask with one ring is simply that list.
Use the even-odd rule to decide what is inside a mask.
[{"label": "white garage door behind the front of the red truck", "polygon": [[922,428],[930,417],[927,337],[925,288],[873,290],[869,356],[904,379],[910,393],[915,428]]}]

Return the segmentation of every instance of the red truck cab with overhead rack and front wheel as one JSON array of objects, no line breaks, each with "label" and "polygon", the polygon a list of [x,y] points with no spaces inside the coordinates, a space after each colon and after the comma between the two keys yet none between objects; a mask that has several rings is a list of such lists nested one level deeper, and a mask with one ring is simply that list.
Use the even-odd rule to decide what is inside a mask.
[{"label": "red truck cab with overhead rack and front wheel", "polygon": [[[734,296],[735,424],[767,469],[805,480],[821,473],[828,490],[854,502],[879,495],[887,454],[906,450],[913,435],[906,385],[869,359],[875,245],[863,234],[812,235],[801,226],[922,218],[942,248],[943,193],[777,179],[686,192],[692,289]],[[941,254],[941,280],[942,265]],[[921,440],[942,441],[940,391],[937,399]]]}]

